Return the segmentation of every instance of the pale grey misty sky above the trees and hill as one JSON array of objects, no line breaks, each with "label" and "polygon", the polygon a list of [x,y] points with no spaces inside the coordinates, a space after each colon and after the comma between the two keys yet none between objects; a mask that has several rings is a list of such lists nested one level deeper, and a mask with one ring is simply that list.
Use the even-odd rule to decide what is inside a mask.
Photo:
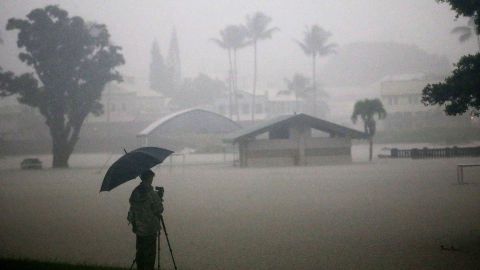
[{"label": "pale grey misty sky above the trees and hill", "polygon": [[[180,42],[182,72],[199,72],[219,79],[226,77],[226,53],[210,38],[228,24],[244,23],[245,16],[262,11],[272,17],[272,26],[280,28],[273,39],[259,44],[259,84],[280,82],[294,72],[309,74],[310,59],[303,55],[294,39],[300,40],[306,25],[318,24],[332,32],[332,42],[394,41],[415,44],[429,53],[446,55],[453,63],[461,55],[475,52],[474,40],[459,43],[450,34],[453,27],[466,24],[455,21],[455,13],[446,4],[434,0],[1,0],[0,24],[4,44],[0,45],[1,66],[20,70],[17,60],[16,32],[6,31],[8,18],[24,18],[36,7],[59,4],[71,15],[105,23],[114,43],[123,47],[124,74],[148,78],[152,41],[160,43],[165,57],[170,34],[175,27]],[[249,84],[252,73],[252,49],[239,54],[240,83]]]}]

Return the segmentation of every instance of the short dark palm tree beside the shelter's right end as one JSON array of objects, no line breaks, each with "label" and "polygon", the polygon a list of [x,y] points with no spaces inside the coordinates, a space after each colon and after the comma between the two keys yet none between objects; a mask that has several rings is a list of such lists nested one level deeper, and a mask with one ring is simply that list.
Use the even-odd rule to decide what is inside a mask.
[{"label": "short dark palm tree beside the shelter's right end", "polygon": [[352,113],[352,122],[356,123],[358,117],[362,118],[363,127],[365,133],[368,136],[368,141],[370,144],[369,147],[369,160],[372,161],[372,152],[373,152],[373,136],[376,132],[376,122],[374,116],[377,115],[378,119],[385,119],[387,117],[387,112],[383,107],[380,99],[365,99],[359,100],[355,103]]}]

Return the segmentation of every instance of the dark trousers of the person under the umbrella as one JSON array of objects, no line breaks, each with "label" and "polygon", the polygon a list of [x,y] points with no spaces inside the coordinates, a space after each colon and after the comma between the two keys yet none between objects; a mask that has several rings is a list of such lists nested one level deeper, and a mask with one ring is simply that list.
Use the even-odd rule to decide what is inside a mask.
[{"label": "dark trousers of the person under the umbrella", "polygon": [[137,235],[137,269],[153,270],[155,268],[155,248],[157,244],[157,235],[138,236]]}]

